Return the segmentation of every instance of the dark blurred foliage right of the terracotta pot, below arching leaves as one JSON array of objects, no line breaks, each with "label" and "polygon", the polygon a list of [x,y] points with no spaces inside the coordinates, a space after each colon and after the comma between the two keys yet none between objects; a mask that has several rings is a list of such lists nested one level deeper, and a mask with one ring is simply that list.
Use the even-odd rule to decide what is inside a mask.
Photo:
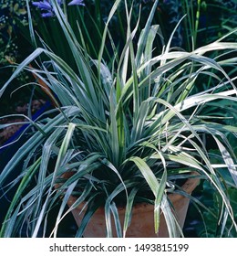
[{"label": "dark blurred foliage right of the terracotta pot, below arching leaves", "polygon": [[[222,171],[222,174],[224,172]],[[224,176],[226,178],[226,176]],[[234,213],[234,219],[237,220],[237,189],[229,184],[226,187],[227,194],[230,197],[230,203]],[[198,198],[201,204],[204,206],[198,207],[193,202],[189,209],[190,218],[187,219],[187,223],[184,229],[186,237],[200,237],[200,238],[218,238],[221,237],[222,228],[220,225],[219,216],[222,212],[222,200],[210,186],[208,182],[203,182],[201,187],[195,191],[194,197]],[[194,220],[193,220],[194,219]],[[236,230],[232,229],[229,232],[228,229],[232,227],[232,220],[227,219],[227,229],[224,230],[222,237],[237,238]]]}]

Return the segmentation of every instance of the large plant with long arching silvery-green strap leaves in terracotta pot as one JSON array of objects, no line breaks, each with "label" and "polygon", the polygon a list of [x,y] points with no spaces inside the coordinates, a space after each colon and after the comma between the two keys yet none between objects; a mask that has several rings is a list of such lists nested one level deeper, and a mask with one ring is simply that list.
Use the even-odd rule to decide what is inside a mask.
[{"label": "large plant with long arching silvery-green strap leaves in terracotta pot", "polygon": [[[180,213],[172,197],[178,195],[186,202],[191,198],[198,204],[191,197],[197,178],[209,181],[222,197],[222,229],[228,216],[236,229],[226,182],[219,173],[223,167],[236,187],[236,157],[225,136],[226,132],[236,133],[236,127],[224,125],[222,112],[217,112],[220,104],[222,109],[226,104],[231,115],[232,103],[237,101],[234,79],[224,69],[225,65],[232,67],[234,59],[228,54],[237,44],[223,42],[223,37],[185,52],[170,48],[172,34],[157,53],[154,39],[160,31],[151,22],[158,1],[140,33],[139,21],[136,27],[129,26],[132,8],[125,1],[126,44],[120,52],[110,38],[113,61],[106,63],[108,24],[120,1],[115,1],[108,16],[98,59],[88,55],[83,38],[83,44],[77,42],[75,33],[80,29],[69,26],[58,1],[49,2],[77,71],[44,45],[18,65],[1,89],[3,95],[11,81],[27,69],[46,84],[57,104],[36,121],[29,120],[33,129],[26,144],[0,175],[4,195],[16,187],[0,236],[17,236],[23,228],[29,237],[46,236],[48,214],[60,204],[51,236],[57,236],[60,221],[76,209],[77,237],[87,236],[87,227],[92,229],[90,221],[99,212],[104,236],[126,237],[135,216],[139,223],[149,219],[144,218],[144,209],[149,208],[154,236],[179,237],[185,217],[177,219]],[[211,52],[218,56],[211,59]],[[37,69],[28,66],[34,60]],[[209,81],[209,88],[193,93],[203,78]],[[207,112],[210,105],[213,112]],[[210,142],[217,145],[218,153],[209,153]],[[216,158],[221,159],[220,165],[213,164]],[[23,166],[11,180],[20,161]],[[191,188],[187,188],[189,184]],[[164,235],[160,231],[163,225]],[[136,227],[130,236],[147,236]]]}]

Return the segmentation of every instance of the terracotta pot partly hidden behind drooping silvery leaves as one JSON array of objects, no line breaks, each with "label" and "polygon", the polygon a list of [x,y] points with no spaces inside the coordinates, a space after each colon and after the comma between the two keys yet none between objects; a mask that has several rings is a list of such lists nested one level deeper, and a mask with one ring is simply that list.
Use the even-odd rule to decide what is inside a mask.
[{"label": "terracotta pot partly hidden behind drooping silvery leaves", "polygon": [[[182,189],[191,195],[191,192],[199,184],[199,178],[190,178],[182,186]],[[170,201],[175,209],[175,215],[183,228],[184,221],[186,218],[187,210],[189,207],[190,199],[188,197],[183,197],[179,194],[170,194]],[[70,197],[67,205],[72,206],[77,200],[77,197]],[[85,210],[81,212],[82,206],[75,208],[72,211],[74,219],[77,222],[77,226],[80,225]],[[121,225],[123,225],[125,208],[118,208],[118,215]],[[113,219],[113,218],[112,218]],[[113,233],[116,237],[115,227],[113,223]],[[87,228],[83,234],[86,238],[104,238],[106,237],[106,223],[105,223],[105,211],[104,208],[98,208],[95,214],[90,219]],[[135,205],[132,209],[132,218],[127,230],[126,237],[128,238],[168,238],[169,232],[166,226],[166,222],[163,214],[160,215],[160,229],[159,233],[156,234],[154,231],[154,206],[149,204],[139,204]]]}]

